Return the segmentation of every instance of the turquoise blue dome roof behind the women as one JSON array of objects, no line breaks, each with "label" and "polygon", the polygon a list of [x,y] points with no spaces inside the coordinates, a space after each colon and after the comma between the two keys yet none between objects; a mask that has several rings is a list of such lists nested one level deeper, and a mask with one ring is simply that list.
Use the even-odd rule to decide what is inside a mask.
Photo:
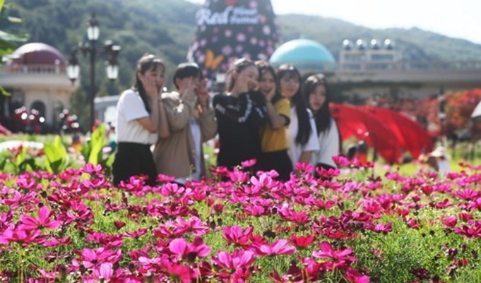
[{"label": "turquoise blue dome roof behind the women", "polygon": [[324,45],[310,39],[294,39],[280,45],[271,55],[273,67],[282,64],[295,65],[302,74],[331,73],[335,70],[335,58]]}]

